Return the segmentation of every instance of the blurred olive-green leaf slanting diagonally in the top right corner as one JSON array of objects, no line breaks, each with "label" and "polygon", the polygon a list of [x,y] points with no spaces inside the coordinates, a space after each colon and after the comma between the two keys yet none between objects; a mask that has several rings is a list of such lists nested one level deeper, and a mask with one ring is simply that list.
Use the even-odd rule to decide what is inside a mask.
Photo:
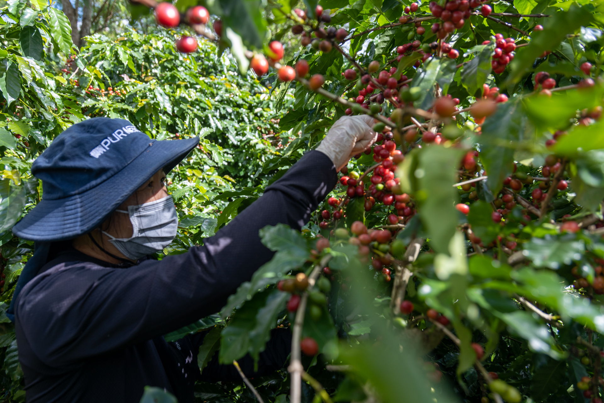
[{"label": "blurred olive-green leaf slanting diagonally in the top right corner", "polygon": [[510,63],[508,80],[518,82],[544,51],[555,50],[562,40],[566,39],[567,34],[574,33],[582,25],[589,25],[592,20],[590,11],[576,4],[571,5],[567,12],[558,11],[545,19],[544,30],[533,31],[528,46],[518,50]]}]

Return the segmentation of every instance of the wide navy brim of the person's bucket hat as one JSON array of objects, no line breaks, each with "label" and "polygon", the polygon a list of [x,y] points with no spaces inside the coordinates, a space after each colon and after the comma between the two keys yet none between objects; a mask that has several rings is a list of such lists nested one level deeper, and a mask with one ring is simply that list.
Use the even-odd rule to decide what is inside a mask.
[{"label": "wide navy brim of the person's bucket hat", "polygon": [[96,187],[64,199],[42,199],[13,227],[28,240],[58,241],[86,234],[103,222],[158,170],[171,170],[199,143],[199,137],[153,141],[120,172]]}]

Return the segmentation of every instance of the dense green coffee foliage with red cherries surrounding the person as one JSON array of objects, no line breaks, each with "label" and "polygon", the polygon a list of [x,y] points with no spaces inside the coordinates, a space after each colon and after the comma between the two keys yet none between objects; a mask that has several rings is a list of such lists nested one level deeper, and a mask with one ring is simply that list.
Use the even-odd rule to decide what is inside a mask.
[{"label": "dense green coffee foliage with red cherries surrounding the person", "polygon": [[[176,2],[183,13],[196,4]],[[40,198],[31,161],[72,123],[124,117],[151,138],[202,138],[170,175],[181,215],[164,254],[175,254],[228,224],[339,117],[369,113],[380,120],[379,146],[355,156],[341,179],[365,183],[352,193],[339,184],[301,233],[263,229],[274,259],[221,312],[167,340],[213,327],[198,363],[219,350],[230,364],[247,353],[257,358],[273,327],[294,327],[303,317],[301,338],[315,340],[319,352],[301,356],[304,402],[601,401],[601,2],[492,2],[489,17],[477,8],[440,39],[440,26],[430,29],[442,24],[433,4],[407,13],[407,2],[321,0],[330,8],[320,27],[316,2],[304,4],[306,22],[286,0],[267,7],[208,2],[222,36],[200,40],[198,51],[185,55],[173,45],[194,32],[184,25],[111,39],[95,34],[77,52],[60,11],[7,2],[0,26],[0,301],[10,302],[31,256],[31,242],[10,233]],[[319,41],[300,46],[290,31],[295,24],[327,33],[343,27],[347,35],[328,38],[330,51]],[[214,37],[210,25],[206,37]],[[496,45],[504,46],[500,34],[515,44],[503,70],[493,63]],[[278,65],[258,79],[243,74],[249,52],[268,53],[270,40],[290,45],[280,63],[306,60],[310,76],[323,76],[321,89],[310,89],[308,77],[280,82]],[[443,44],[458,57],[446,56],[455,53]],[[371,97],[361,79],[371,62],[379,65],[373,79],[388,71],[397,94],[356,103]],[[356,79],[347,80],[346,69],[355,69]],[[455,112],[445,111],[448,96],[458,100]],[[492,111],[481,115],[484,105]],[[390,138],[400,153],[379,156]],[[404,161],[388,169],[391,156]],[[362,228],[369,228],[368,242]],[[305,278],[310,288],[294,294],[306,305],[289,312],[292,285]],[[5,315],[0,326],[5,398],[22,401],[14,330]],[[292,361],[300,353],[293,347]],[[251,381],[265,401],[286,402],[293,376],[281,370]],[[144,399],[170,401],[160,395],[149,389]],[[255,400],[243,382],[200,383],[196,399]]]}]

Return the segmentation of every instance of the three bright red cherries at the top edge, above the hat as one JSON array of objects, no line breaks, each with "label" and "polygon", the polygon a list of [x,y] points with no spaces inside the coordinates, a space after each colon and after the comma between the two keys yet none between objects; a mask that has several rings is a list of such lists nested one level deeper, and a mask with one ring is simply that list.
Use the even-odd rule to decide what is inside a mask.
[{"label": "three bright red cherries at the top edge, above the hat", "polygon": [[[189,25],[205,25],[209,19],[210,13],[202,5],[188,8],[184,15],[181,15],[178,8],[169,2],[161,2],[155,6],[155,21],[164,28],[176,28],[181,22]],[[219,26],[222,27],[221,24]],[[216,33],[220,36],[218,31]],[[197,39],[191,36],[181,36],[176,40],[175,45],[181,53],[192,53],[198,47]]]}]

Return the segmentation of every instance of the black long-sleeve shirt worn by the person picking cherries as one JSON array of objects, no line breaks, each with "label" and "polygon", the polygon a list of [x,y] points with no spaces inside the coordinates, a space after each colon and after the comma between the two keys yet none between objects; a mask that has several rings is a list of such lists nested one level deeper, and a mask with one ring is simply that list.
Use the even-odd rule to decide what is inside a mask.
[{"label": "black long-sleeve shirt worn by the person picking cherries", "polygon": [[[336,181],[332,161],[308,152],[203,247],[127,269],[73,261],[73,252],[47,264],[15,304],[27,401],[138,402],[145,385],[192,401],[188,371],[199,373],[200,337],[166,343],[161,336],[219,311],[273,255],[260,242],[260,228],[300,228]],[[274,334],[276,347],[261,355],[260,369],[283,365],[277,350],[287,338]],[[215,359],[204,374],[213,381],[234,376]]]}]

